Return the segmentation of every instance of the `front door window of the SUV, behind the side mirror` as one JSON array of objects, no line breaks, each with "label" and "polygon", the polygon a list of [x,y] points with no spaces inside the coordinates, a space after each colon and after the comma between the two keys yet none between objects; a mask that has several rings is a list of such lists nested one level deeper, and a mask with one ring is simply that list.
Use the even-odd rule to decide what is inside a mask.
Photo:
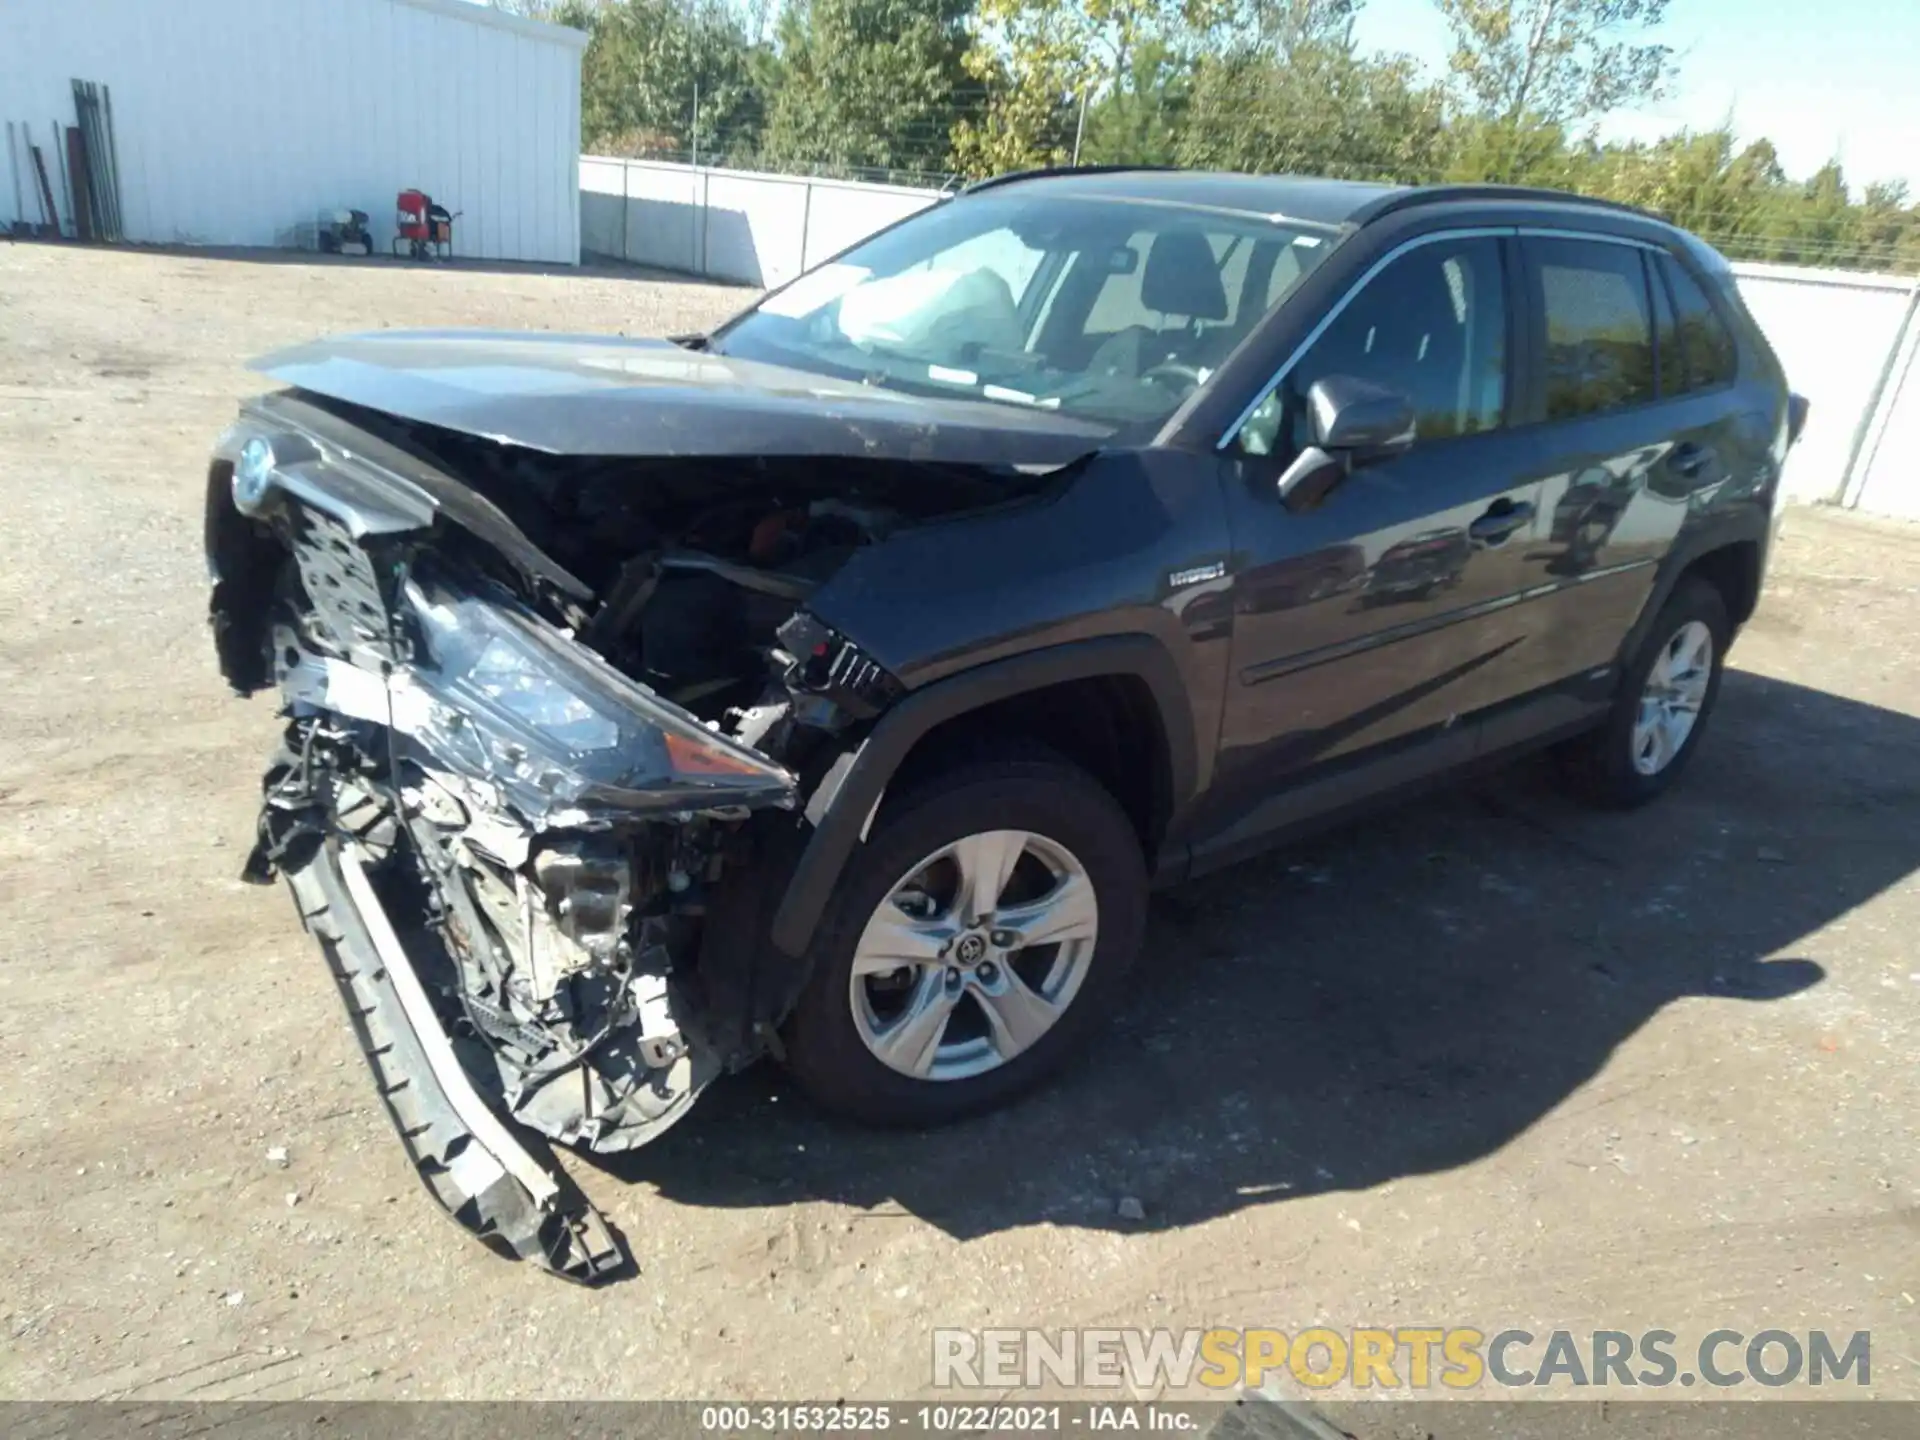
[{"label": "front door window of the SUV, behind the side mirror", "polygon": [[1413,403],[1421,442],[1494,430],[1507,405],[1507,300],[1500,242],[1434,240],[1409,250],[1352,298],[1240,426],[1248,455],[1313,444],[1306,396],[1350,374]]}]

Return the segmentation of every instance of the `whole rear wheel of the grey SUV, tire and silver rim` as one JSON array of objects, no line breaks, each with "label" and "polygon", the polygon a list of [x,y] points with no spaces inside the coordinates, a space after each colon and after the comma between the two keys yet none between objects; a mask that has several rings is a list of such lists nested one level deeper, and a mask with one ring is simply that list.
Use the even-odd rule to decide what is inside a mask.
[{"label": "whole rear wheel of the grey SUV, tire and silver rim", "polygon": [[1720,695],[1732,624],[1705,580],[1682,580],[1628,666],[1599,730],[1559,749],[1571,787],[1607,806],[1645,804],[1693,756]]}]

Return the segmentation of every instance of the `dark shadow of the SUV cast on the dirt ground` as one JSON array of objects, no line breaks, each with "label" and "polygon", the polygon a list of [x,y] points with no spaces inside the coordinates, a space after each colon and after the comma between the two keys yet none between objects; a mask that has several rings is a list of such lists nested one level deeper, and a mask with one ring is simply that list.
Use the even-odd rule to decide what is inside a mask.
[{"label": "dark shadow of the SUV cast on the dirt ground", "polygon": [[[822,1116],[762,1066],[589,1164],[697,1206],[902,1208],[970,1238],[1139,1229],[1500,1150],[1667,1004],[1818,985],[1812,931],[1920,868],[1920,720],[1728,672],[1692,772],[1594,814],[1544,758],[1154,902],[1069,1071],[937,1133]],[[1711,1021],[1709,1021],[1711,1023]]]}]

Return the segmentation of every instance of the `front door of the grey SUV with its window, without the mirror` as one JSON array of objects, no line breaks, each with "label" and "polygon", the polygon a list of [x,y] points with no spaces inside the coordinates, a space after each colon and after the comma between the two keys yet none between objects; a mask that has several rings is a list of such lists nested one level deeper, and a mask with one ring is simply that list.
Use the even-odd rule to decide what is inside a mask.
[{"label": "front door of the grey SUV with its window, without the mirror", "polygon": [[[1233,676],[1217,833],[1200,849],[1284,822],[1298,806],[1279,791],[1315,774],[1463,760],[1473,737],[1457,722],[1524,689],[1523,597],[1546,559],[1528,438],[1507,424],[1515,263],[1494,232],[1409,242],[1338,301],[1238,428]],[[1275,482],[1311,438],[1308,390],[1336,374],[1407,396],[1417,438],[1292,511]]]}]

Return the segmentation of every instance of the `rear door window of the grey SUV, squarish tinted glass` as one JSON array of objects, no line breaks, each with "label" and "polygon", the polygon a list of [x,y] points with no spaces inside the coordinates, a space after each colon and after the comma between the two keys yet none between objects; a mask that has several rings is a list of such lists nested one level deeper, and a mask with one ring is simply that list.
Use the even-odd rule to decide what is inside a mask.
[{"label": "rear door window of the grey SUV, squarish tinted glass", "polygon": [[1644,405],[1653,390],[1653,311],[1640,250],[1528,240],[1546,323],[1549,420]]}]

